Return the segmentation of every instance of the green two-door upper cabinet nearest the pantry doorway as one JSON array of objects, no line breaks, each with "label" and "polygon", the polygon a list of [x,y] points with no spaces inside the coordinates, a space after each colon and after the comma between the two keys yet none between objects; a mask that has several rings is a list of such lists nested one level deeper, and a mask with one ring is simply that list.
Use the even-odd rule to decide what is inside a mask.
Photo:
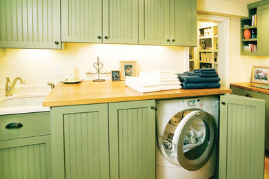
[{"label": "green two-door upper cabinet nearest the pantry doorway", "polygon": [[139,44],[195,46],[195,0],[139,0]]}]

